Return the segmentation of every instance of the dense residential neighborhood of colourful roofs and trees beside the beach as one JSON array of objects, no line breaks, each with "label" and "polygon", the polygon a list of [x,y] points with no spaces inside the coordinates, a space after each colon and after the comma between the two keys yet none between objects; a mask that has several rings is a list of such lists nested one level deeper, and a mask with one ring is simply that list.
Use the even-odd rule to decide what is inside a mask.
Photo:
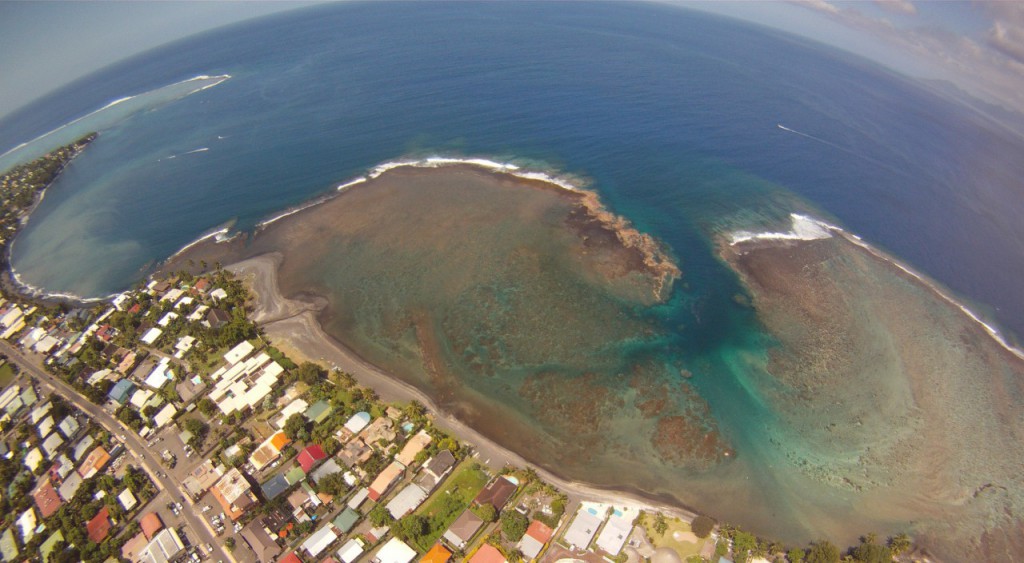
[{"label": "dense residential neighborhood of colourful roofs and trees beside the beach", "polygon": [[[246,318],[247,298],[217,269],[90,310],[0,303],[4,561],[626,561],[627,546],[657,549],[635,510],[570,503],[532,470],[487,467],[422,405],[296,364]],[[714,554],[713,540],[692,544]]]}]

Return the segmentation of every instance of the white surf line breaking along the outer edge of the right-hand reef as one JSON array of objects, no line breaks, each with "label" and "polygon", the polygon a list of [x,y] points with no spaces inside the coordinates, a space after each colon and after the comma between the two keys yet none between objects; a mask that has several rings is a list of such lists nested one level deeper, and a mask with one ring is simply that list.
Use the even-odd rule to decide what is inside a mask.
[{"label": "white surf line breaking along the outer edge of the right-hand reef", "polygon": [[[781,126],[779,126],[781,127]],[[799,132],[798,132],[799,133]],[[800,133],[802,134],[802,133]],[[729,245],[735,246],[742,243],[755,242],[755,241],[816,241],[820,239],[828,239],[831,233],[837,233],[846,241],[860,247],[861,249],[868,252],[871,256],[874,256],[879,260],[888,262],[893,266],[896,266],[902,270],[907,275],[910,275],[926,288],[939,296],[940,299],[946,303],[956,307],[961,310],[968,318],[977,322],[989,337],[992,338],[996,343],[999,344],[1004,349],[1006,349],[1011,354],[1017,356],[1019,359],[1024,360],[1024,350],[1017,348],[1010,344],[1006,338],[999,333],[995,327],[992,327],[977,313],[972,311],[967,305],[961,303],[951,294],[940,288],[935,283],[929,280],[924,275],[918,273],[912,268],[900,262],[896,258],[888,255],[887,253],[872,247],[871,245],[864,242],[863,239],[853,234],[852,232],[847,232],[842,227],[826,223],[820,219],[815,219],[807,215],[801,215],[799,213],[791,213],[790,218],[793,221],[792,230],[788,232],[751,232],[745,230],[739,230],[733,232]]]}]

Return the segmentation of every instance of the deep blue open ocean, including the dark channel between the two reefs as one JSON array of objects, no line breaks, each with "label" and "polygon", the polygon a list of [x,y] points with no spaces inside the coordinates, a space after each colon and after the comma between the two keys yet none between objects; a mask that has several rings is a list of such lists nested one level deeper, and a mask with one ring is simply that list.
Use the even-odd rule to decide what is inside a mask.
[{"label": "deep blue open ocean, including the dark channel between the two reefs", "polygon": [[[222,74],[191,95],[159,93]],[[667,314],[689,328],[675,345],[694,354],[760,338],[714,237],[785,227],[794,211],[1024,334],[1024,138],[779,32],[635,3],[318,6],[80,80],[0,121],[0,153],[155,91],[162,102],[114,106],[0,158],[6,167],[99,129],[16,240],[24,282],[105,296],[204,233],[251,229],[379,163],[467,156],[586,178],[667,243],[683,270]],[[741,380],[700,389],[727,433],[770,417],[736,398]]]}]

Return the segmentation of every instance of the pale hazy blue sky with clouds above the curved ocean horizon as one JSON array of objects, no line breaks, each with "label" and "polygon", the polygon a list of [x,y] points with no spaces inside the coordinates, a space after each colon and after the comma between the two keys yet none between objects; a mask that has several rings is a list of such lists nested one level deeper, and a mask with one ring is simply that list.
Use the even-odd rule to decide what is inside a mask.
[{"label": "pale hazy blue sky with clouds above the curved ocean horizon", "polygon": [[[312,1],[0,0],[0,118],[121,59]],[[663,3],[776,28],[1024,115],[1024,2],[911,0]]]}]

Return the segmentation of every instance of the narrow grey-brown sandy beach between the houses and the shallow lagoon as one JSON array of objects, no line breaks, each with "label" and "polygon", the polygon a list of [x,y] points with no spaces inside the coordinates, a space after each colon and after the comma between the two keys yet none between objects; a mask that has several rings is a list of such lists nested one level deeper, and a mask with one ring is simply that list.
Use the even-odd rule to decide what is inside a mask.
[{"label": "narrow grey-brown sandy beach between the houses and the shallow lagoon", "polygon": [[606,489],[558,476],[521,454],[499,444],[456,417],[439,408],[426,393],[373,365],[329,336],[316,319],[318,303],[289,299],[278,287],[276,269],[282,257],[264,254],[225,266],[236,273],[256,296],[252,318],[259,323],[273,346],[298,361],[326,362],[350,373],[359,384],[376,391],[385,401],[416,400],[422,403],[445,431],[472,445],[481,461],[500,469],[505,465],[534,468],[545,481],[566,492],[573,501],[592,501],[642,510],[657,511],[691,520],[697,513],[678,505],[659,504],[635,491]]}]

